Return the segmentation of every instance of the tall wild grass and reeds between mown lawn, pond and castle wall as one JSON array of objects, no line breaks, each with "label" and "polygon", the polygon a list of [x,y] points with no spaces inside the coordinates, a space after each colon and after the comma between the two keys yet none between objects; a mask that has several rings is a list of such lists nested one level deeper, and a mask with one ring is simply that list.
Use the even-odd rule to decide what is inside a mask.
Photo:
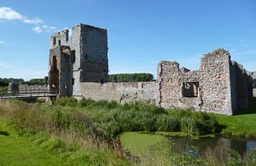
[{"label": "tall wild grass and reeds between mown lawn, pond and castle wall", "polygon": [[[223,126],[228,129],[225,118],[232,118],[165,110],[147,103],[121,106],[116,102],[85,98],[79,102],[75,98],[58,98],[53,106],[11,101],[0,105],[0,117],[13,126],[18,136],[31,140],[60,160],[66,158],[63,163],[68,165],[133,165],[122,156],[119,135],[123,132],[216,134],[225,131]],[[255,122],[249,125],[253,124]],[[154,139],[150,139],[150,143],[154,144]],[[179,161],[183,157],[173,158]],[[191,156],[187,157],[185,160]],[[191,163],[196,162],[194,159]]]}]

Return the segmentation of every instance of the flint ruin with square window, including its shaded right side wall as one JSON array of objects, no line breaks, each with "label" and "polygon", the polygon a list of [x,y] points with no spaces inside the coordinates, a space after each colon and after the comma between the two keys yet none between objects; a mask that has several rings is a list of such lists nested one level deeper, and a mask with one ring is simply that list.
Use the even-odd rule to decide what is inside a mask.
[{"label": "flint ruin with square window, including its shaded right side wall", "polygon": [[[224,49],[205,54],[200,70],[195,71],[180,69],[176,62],[161,61],[158,66],[160,106],[226,115],[236,113],[238,108],[248,108],[249,91],[252,91],[250,77],[240,76],[240,70],[232,68],[230,54]],[[239,82],[242,77],[244,81]],[[240,96],[237,101],[236,96]]]}]

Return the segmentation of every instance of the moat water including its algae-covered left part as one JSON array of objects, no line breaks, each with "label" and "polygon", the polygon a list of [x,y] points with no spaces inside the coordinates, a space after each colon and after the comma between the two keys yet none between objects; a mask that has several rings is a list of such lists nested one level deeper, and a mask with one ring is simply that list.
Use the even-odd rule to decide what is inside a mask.
[{"label": "moat water including its algae-covered left part", "polygon": [[[138,138],[138,142],[142,144],[147,142],[151,136],[155,135],[145,133],[139,134],[136,132],[134,132],[134,134]],[[133,147],[133,149],[130,149],[131,153],[133,153],[133,151],[141,150],[140,146],[142,145],[140,143],[130,145]],[[245,153],[251,153],[251,150],[255,148],[256,140],[230,139],[224,138],[223,136],[192,139],[190,136],[164,135],[163,139],[147,146],[146,151],[140,153],[140,157],[146,154],[146,156],[153,158],[159,158],[159,155],[161,158],[169,158],[171,155],[184,155],[189,153],[195,158],[204,159],[205,156],[210,155],[219,160],[226,161],[230,150],[238,152],[238,154],[244,158]]]}]

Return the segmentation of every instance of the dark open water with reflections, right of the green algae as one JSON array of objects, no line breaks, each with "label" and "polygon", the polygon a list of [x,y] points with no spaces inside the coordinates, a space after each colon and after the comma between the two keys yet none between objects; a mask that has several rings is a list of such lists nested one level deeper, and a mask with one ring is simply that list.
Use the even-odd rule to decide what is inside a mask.
[{"label": "dark open water with reflections, right of the green algae", "polygon": [[256,147],[256,141],[227,139],[221,136],[214,138],[191,139],[189,136],[169,136],[171,152],[192,153],[195,157],[203,158],[209,148],[217,158],[227,158],[228,150],[237,151],[242,157]]}]

